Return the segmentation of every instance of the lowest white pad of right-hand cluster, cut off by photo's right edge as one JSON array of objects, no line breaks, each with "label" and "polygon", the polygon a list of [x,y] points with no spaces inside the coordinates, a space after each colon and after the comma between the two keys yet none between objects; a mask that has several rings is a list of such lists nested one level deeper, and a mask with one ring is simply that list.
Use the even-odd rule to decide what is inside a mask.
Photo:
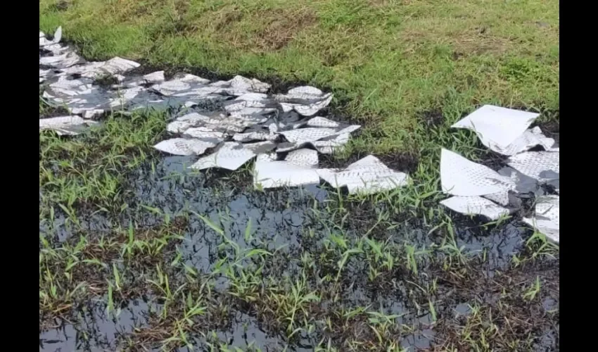
[{"label": "lowest white pad of right-hand cluster, cut off by photo's right edge", "polygon": [[537,199],[535,217],[523,218],[523,222],[556,243],[560,240],[560,197],[544,196]]}]

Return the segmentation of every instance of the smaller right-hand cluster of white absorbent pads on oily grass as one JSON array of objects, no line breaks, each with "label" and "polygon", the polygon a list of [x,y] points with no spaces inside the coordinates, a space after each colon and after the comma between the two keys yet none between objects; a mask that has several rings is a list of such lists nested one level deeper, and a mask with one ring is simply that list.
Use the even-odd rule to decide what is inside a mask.
[{"label": "smaller right-hand cluster of white absorbent pads on oily grass", "polygon": [[[514,210],[507,208],[511,196],[532,191],[538,195],[535,217],[523,221],[559,242],[559,195],[542,191],[542,185],[549,184],[560,194],[559,147],[540,127],[529,129],[538,115],[486,105],[452,125],[476,132],[484,146],[508,156],[509,167],[495,171],[443,149],[441,184],[452,197],[440,203],[458,213],[497,220]],[[529,151],[537,146],[544,151]]]}]

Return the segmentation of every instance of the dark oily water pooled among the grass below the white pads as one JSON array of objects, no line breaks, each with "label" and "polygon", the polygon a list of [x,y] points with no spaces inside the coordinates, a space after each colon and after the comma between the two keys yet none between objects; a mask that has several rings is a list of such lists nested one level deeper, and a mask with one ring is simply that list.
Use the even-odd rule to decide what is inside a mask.
[{"label": "dark oily water pooled among the grass below the white pads", "polygon": [[[318,232],[317,238],[320,239],[329,234],[326,221],[332,215],[326,213],[325,205],[327,199],[336,195],[326,187],[314,185],[301,189],[253,191],[250,176],[227,181],[226,177],[233,177],[231,175],[218,177],[229,185],[220,187],[208,184],[210,177],[189,173],[186,166],[192,162],[193,158],[188,157],[166,157],[129,175],[127,184],[123,187],[131,190],[126,194],[129,210],[125,210],[117,220],[120,225],[126,227],[132,218],[139,227],[151,227],[163,222],[164,215],[141,206],[159,209],[172,216],[195,212],[222,226],[227,237],[241,246],[241,249],[250,248],[255,241],[262,241],[269,249],[284,247],[283,250],[288,253],[295,253],[303,246],[316,248],[321,245],[321,241],[308,244],[303,238],[307,228]],[[314,211],[314,208],[318,211]],[[114,221],[98,214],[81,218],[82,227],[95,231],[110,231]],[[248,224],[254,238],[250,243],[245,240]],[[491,230],[475,225],[456,230],[457,246],[464,246],[470,253],[484,252],[492,270],[509,265],[512,255],[521,251],[523,239],[529,237],[529,230],[516,223]],[[393,241],[409,241],[423,247],[431,244],[427,231],[428,229],[418,227],[396,227],[386,230],[385,234]],[[60,213],[57,213],[53,226],[40,224],[40,232],[56,234],[62,240],[72,236],[68,221]],[[346,232],[347,237],[361,237],[363,234],[363,228],[360,227],[348,227]],[[186,240],[179,247],[184,256],[182,260],[200,272],[210,272],[219,258],[218,246],[224,242],[222,236],[194,215],[191,215],[189,230],[184,236]],[[348,270],[356,275],[364,272],[360,263],[352,263]],[[431,314],[426,310],[420,312],[419,308],[416,312],[412,303],[400,291],[401,289],[381,293],[371,291],[366,286],[357,286],[343,298],[343,304],[348,307],[370,306],[370,310],[399,315],[397,322],[420,327],[402,339],[402,346],[412,351],[430,348],[435,338],[434,330],[429,327],[432,322]],[[402,291],[405,289],[402,288]],[[438,306],[437,309],[439,312],[453,311],[455,314],[468,315],[468,303],[447,304]],[[547,306],[552,305],[547,303]],[[106,315],[104,303],[96,303],[87,307],[76,323],[57,322],[55,329],[40,333],[40,351],[114,351],[118,337],[132,332],[135,327],[143,327],[146,316],[152,309],[155,310],[155,307],[149,307],[144,301],[131,301],[114,317]],[[290,351],[313,351],[319,341],[317,337],[305,336],[293,346],[286,346],[283,339],[262,329],[255,317],[240,311],[234,312],[233,324],[217,334],[221,341],[227,341],[229,346],[237,346],[241,350],[249,350],[250,346],[254,346],[261,351],[281,351],[284,348]],[[554,332],[547,332],[542,338],[549,340],[548,346],[555,344],[554,339],[550,339],[551,334]],[[198,341],[196,346],[202,346],[202,342]],[[186,348],[181,351],[186,351]]]}]

